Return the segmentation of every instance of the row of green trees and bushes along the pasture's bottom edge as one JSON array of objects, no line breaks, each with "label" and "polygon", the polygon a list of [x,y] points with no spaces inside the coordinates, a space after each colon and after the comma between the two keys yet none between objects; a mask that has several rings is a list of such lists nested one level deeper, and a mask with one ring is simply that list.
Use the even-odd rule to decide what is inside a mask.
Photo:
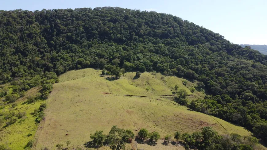
[{"label": "row of green trees and bushes along the pasture's bottom edge", "polygon": [[[91,141],[85,143],[86,148],[100,148],[103,145],[109,146],[112,150],[124,150],[127,143],[131,144],[133,149],[140,150],[137,143],[157,145],[158,140],[161,139],[157,131],[149,132],[147,129],[142,128],[135,136],[133,131],[118,128],[114,125],[109,133],[103,134],[103,131],[95,131],[90,134]],[[30,141],[31,142],[31,141]],[[67,141],[67,148],[69,148],[71,141]],[[199,150],[261,150],[258,145],[258,139],[251,136],[241,136],[237,133],[230,135],[219,135],[211,127],[203,127],[201,131],[196,131],[192,134],[183,133],[179,131],[174,134],[167,134],[164,137],[164,145],[180,144],[185,149],[199,149]],[[66,149],[64,144],[56,144],[58,150]],[[79,148],[77,148],[79,149]],[[44,148],[43,150],[48,150]],[[144,150],[144,149],[142,149]]]}]

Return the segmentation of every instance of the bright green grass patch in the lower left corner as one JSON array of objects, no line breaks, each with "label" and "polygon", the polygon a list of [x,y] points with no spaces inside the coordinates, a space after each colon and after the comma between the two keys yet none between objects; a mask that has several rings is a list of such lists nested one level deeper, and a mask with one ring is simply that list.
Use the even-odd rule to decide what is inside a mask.
[{"label": "bright green grass patch in the lower left corner", "polygon": [[[0,144],[6,144],[12,150],[22,150],[30,139],[34,138],[38,124],[36,124],[35,119],[31,113],[34,109],[39,108],[40,104],[44,101],[39,100],[32,104],[25,103],[26,97],[29,95],[36,94],[40,89],[35,87],[27,91],[24,98],[18,99],[17,106],[14,110],[25,111],[26,116],[17,120],[14,124],[10,126],[0,126]],[[9,111],[11,105],[6,106],[0,111]],[[27,136],[32,134],[32,136]]]}]

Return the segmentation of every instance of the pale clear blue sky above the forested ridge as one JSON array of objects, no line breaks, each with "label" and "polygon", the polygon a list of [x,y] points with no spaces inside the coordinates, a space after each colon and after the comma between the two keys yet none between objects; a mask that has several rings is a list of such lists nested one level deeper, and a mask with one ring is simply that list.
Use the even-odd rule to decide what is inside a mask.
[{"label": "pale clear blue sky above the forested ridge", "polygon": [[2,0],[0,10],[104,6],[169,13],[235,44],[267,44],[267,0]]}]

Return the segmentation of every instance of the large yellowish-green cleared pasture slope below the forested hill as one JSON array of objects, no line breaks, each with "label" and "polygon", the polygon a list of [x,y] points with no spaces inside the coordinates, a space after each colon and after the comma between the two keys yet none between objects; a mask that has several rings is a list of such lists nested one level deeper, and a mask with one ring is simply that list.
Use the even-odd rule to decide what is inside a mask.
[{"label": "large yellowish-green cleared pasture slope below the forested hill", "polygon": [[[251,134],[246,129],[219,118],[187,110],[169,100],[168,96],[162,96],[172,95],[173,87],[178,85],[179,89],[188,91],[189,98],[203,98],[203,93],[191,93],[189,90],[196,83],[189,82],[184,86],[182,79],[165,77],[159,73],[152,75],[146,72],[134,79],[135,73],[130,72],[117,80],[99,74],[101,71],[87,68],[69,71],[59,77],[60,82],[53,85],[47,100],[45,121],[41,122],[37,130],[35,149],[45,146],[55,149],[57,143],[66,146],[67,140],[71,140],[74,146],[83,147],[83,144],[90,141],[90,133],[95,130],[108,133],[112,125],[131,129],[135,133],[146,128],[150,132],[159,132],[161,137],[176,131],[200,131],[204,126],[212,126],[219,134]],[[126,94],[148,97],[125,96]],[[138,144],[138,148],[184,149],[181,146],[166,147],[161,143],[159,141],[157,146]],[[100,149],[109,148],[104,146]],[[130,144],[126,149],[130,149]]]}]

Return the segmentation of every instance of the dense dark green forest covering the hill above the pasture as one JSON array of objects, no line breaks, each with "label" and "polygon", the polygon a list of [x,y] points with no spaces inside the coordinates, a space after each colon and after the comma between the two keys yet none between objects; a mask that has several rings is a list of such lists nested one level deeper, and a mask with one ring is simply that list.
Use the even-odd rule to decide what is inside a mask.
[{"label": "dense dark green forest covering the hill above the pasture", "polygon": [[2,10],[0,48],[0,82],[13,86],[11,94],[2,86],[4,103],[72,69],[158,71],[203,82],[211,96],[193,110],[267,140],[267,56],[179,17],[112,7]]}]

